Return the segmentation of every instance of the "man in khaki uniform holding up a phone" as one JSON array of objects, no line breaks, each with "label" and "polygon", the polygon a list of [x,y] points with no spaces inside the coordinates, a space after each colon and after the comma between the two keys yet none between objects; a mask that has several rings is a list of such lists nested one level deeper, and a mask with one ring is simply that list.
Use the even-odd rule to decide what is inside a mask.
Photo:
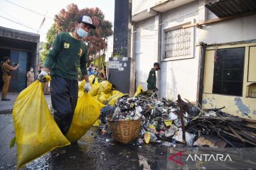
[{"label": "man in khaki uniform holding up a phone", "polygon": [[1,65],[1,69],[3,72],[3,81],[4,81],[4,86],[2,89],[2,101],[10,101],[10,98],[6,98],[7,96],[7,91],[9,89],[9,84],[11,80],[11,71],[14,71],[18,69],[19,64],[17,64],[16,67],[11,67],[10,65],[10,59],[9,57],[4,57],[3,58],[3,64]]}]

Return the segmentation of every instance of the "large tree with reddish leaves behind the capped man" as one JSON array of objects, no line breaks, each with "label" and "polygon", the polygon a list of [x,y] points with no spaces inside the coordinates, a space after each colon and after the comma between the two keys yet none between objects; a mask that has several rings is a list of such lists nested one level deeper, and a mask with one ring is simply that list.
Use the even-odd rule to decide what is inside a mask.
[{"label": "large tree with reddish leaves behind the capped man", "polygon": [[[89,55],[96,55],[100,50],[105,50],[107,47],[107,37],[113,34],[112,23],[105,20],[105,16],[100,8],[82,8],[79,10],[76,4],[70,4],[67,9],[60,10],[60,13],[55,15],[53,26],[48,30],[46,40],[47,45],[43,47],[50,47],[55,39],[56,33],[63,31],[73,32],[75,30],[75,21],[81,16],[90,16],[92,23],[96,26],[95,30],[91,30],[90,34],[84,38],[88,42]],[[48,49],[44,49],[47,50]],[[46,54],[44,52],[43,54]],[[41,56],[43,58],[43,56]]]}]

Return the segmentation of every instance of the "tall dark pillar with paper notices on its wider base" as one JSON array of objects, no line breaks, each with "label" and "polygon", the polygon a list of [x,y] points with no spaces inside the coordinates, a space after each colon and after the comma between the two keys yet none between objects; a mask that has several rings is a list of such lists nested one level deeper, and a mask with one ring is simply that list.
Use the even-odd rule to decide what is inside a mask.
[{"label": "tall dark pillar with paper notices on its wider base", "polygon": [[132,0],[115,0],[113,57],[108,63],[110,81],[118,91],[134,94],[134,60],[131,57]]}]

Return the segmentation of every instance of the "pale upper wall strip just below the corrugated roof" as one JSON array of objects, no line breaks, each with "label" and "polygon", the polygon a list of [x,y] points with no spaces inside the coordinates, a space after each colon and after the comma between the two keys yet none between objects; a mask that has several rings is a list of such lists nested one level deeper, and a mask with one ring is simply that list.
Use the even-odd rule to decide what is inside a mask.
[{"label": "pale upper wall strip just below the corrugated roof", "polygon": [[200,30],[199,40],[208,45],[256,40],[256,15],[210,24]]}]

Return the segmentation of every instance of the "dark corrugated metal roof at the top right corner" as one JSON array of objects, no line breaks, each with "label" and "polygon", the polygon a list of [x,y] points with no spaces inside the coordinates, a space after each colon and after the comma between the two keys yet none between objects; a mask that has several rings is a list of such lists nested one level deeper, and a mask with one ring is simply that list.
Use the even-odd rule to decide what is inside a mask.
[{"label": "dark corrugated metal roof at the top right corner", "polygon": [[205,6],[219,18],[256,11],[255,0],[219,0],[209,2]]}]

